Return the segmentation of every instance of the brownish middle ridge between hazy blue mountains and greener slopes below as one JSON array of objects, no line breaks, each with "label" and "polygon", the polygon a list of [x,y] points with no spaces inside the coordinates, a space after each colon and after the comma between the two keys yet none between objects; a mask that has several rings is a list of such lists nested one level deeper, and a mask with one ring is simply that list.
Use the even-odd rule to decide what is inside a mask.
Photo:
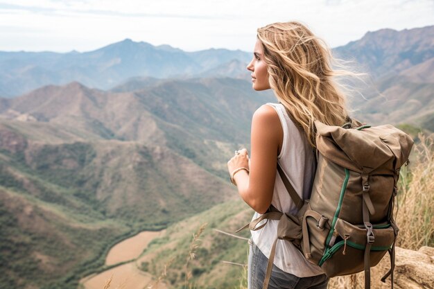
[{"label": "brownish middle ridge between hazy blue mountains and greener slopes below", "polygon": [[[157,123],[170,123],[202,139],[241,142],[248,137],[251,112],[260,103],[273,99],[270,91],[255,93],[249,82],[233,78],[159,80],[144,89],[134,87],[133,91],[121,93],[71,82],[5,99],[0,104],[0,116],[22,119],[25,115],[35,121],[59,123],[86,132],[99,125],[111,134],[110,138],[144,143],[161,141]],[[243,134],[234,136],[230,132],[234,126]],[[107,138],[103,134],[99,137]]]}]

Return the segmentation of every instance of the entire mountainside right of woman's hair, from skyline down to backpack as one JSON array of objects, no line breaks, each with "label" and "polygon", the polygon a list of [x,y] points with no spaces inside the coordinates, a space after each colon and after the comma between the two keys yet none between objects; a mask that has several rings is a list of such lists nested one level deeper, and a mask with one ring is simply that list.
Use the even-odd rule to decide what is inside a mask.
[{"label": "entire mountainside right of woman's hair, from skyline down to backpack", "polygon": [[370,74],[365,98],[351,98],[354,116],[374,125],[408,123],[431,132],[434,114],[434,26],[366,33],[335,53]]}]

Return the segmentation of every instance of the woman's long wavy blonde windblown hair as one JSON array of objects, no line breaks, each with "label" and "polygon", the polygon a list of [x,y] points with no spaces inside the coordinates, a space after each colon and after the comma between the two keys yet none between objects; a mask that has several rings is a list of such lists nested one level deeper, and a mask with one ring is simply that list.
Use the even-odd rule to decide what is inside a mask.
[{"label": "woman's long wavy blonde windblown hair", "polygon": [[270,87],[315,148],[315,120],[327,125],[350,121],[345,94],[333,79],[345,73],[333,71],[330,49],[303,24],[275,23],[257,32]]}]

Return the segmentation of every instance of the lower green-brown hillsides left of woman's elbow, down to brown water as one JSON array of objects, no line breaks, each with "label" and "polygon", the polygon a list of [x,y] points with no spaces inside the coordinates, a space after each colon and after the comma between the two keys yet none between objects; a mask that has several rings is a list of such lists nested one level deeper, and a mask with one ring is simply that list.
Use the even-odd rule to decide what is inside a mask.
[{"label": "lower green-brown hillsides left of woman's elbow, down to brown water", "polygon": [[[117,241],[162,229],[232,193],[227,182],[184,157],[137,143],[30,145],[0,158],[6,245],[0,255],[8,261],[3,266],[13,264],[0,280],[10,288],[76,288]],[[189,183],[177,185],[190,173]]]}]

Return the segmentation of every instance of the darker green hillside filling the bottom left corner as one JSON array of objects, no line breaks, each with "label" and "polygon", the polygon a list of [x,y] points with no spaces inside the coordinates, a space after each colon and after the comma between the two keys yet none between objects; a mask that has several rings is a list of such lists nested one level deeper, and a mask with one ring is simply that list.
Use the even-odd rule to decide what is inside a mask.
[{"label": "darker green hillside filling the bottom left corner", "polygon": [[[6,176],[2,168],[1,178]],[[76,198],[59,199],[79,210],[53,204],[53,191],[32,181],[49,200],[23,193],[11,182],[10,188],[0,188],[1,287],[76,288],[79,277],[103,265],[105,252],[134,228]]]}]

